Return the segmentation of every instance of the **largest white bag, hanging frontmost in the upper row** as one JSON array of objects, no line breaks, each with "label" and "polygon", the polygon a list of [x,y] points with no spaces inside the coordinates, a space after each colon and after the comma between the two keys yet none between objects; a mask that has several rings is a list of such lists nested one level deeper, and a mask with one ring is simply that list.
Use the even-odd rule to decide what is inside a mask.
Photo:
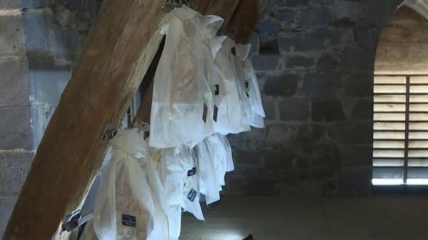
[{"label": "largest white bag, hanging frontmost in the upper row", "polygon": [[209,48],[223,19],[202,16],[186,6],[162,19],[164,51],[154,76],[151,105],[152,147],[175,147],[213,132],[213,93],[207,83],[213,53]]}]

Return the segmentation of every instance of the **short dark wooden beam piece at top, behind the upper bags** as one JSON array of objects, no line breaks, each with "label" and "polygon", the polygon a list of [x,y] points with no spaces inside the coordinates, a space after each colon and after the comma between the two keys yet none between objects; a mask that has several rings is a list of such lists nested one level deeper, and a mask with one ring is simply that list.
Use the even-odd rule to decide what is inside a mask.
[{"label": "short dark wooden beam piece at top, behind the upper bags", "polygon": [[227,35],[237,43],[248,43],[269,0],[242,0],[227,25]]}]

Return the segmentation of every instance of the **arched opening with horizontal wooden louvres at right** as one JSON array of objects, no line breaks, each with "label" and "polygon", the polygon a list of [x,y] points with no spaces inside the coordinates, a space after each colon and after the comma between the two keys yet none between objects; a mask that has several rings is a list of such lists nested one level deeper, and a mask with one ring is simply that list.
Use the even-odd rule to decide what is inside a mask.
[{"label": "arched opening with horizontal wooden louvres at right", "polygon": [[[417,9],[417,11],[414,11]],[[374,66],[374,185],[428,184],[428,21],[405,1],[384,27]]]}]

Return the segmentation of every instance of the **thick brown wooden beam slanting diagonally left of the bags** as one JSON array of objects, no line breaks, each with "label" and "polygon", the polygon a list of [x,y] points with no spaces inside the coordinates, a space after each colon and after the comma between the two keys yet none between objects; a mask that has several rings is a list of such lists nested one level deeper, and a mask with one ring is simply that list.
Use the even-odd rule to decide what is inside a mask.
[{"label": "thick brown wooden beam slanting diagonally left of the bags", "polygon": [[4,240],[50,240],[81,204],[101,166],[109,124],[119,125],[161,42],[163,0],[107,0],[61,96]]}]

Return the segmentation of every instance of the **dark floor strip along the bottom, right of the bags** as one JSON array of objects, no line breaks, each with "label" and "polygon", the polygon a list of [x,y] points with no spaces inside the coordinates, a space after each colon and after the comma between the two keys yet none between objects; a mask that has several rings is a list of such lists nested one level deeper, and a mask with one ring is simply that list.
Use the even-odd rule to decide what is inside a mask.
[{"label": "dark floor strip along the bottom, right of the bags", "polygon": [[428,239],[428,197],[224,197],[184,216],[181,240]]}]

